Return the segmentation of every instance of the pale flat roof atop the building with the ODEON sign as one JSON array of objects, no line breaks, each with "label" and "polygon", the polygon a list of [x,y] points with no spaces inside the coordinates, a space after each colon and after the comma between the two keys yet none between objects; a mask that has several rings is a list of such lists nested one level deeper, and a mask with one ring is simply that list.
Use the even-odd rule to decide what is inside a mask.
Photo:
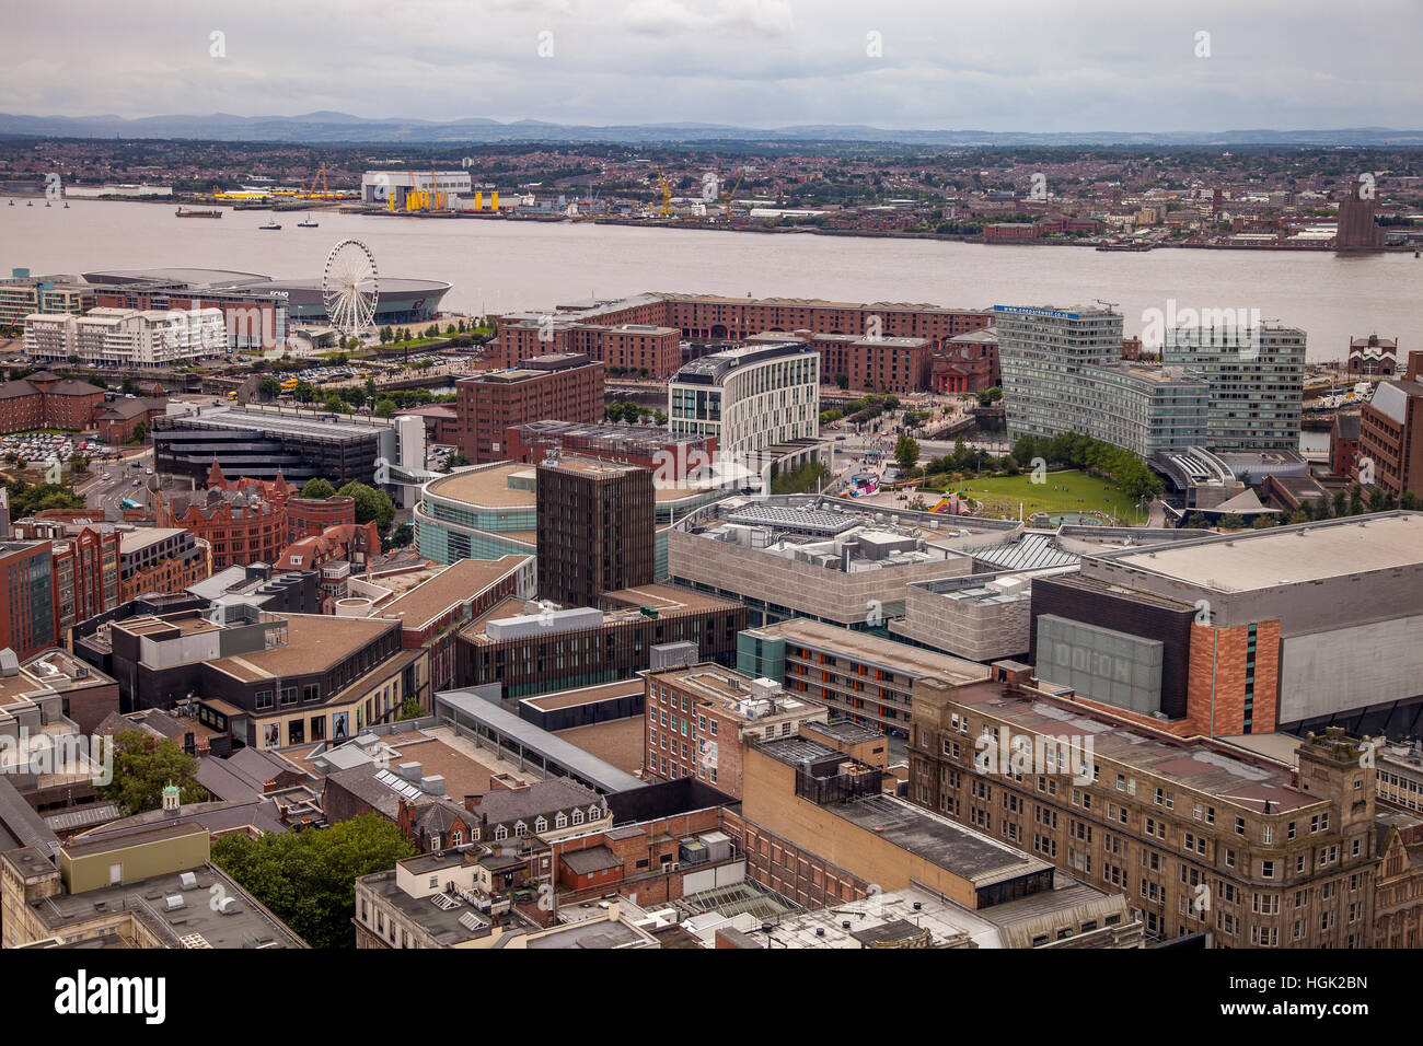
[{"label": "pale flat roof atop the building with the ODEON sign", "polygon": [[1382,512],[1241,531],[1133,552],[1093,555],[1218,592],[1252,592],[1423,565],[1423,512]]}]

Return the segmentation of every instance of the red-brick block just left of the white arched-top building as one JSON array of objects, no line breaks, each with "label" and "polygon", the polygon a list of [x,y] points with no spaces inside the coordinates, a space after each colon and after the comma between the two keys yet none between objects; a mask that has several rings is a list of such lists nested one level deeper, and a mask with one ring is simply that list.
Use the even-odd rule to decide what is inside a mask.
[{"label": "red-brick block just left of the white arched-top building", "polygon": [[477,465],[507,460],[505,430],[528,421],[602,421],[606,364],[585,353],[538,356],[455,383],[460,450]]}]

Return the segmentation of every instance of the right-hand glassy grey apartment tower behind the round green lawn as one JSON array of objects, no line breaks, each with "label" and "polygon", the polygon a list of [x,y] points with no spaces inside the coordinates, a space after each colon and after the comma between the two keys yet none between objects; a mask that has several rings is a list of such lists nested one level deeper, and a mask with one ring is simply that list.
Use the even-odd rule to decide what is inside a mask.
[{"label": "right-hand glassy grey apartment tower behind the round green lawn", "polygon": [[1298,450],[1305,332],[1261,322],[1241,326],[1231,316],[1167,330],[1161,361],[1187,367],[1210,386],[1211,448]]}]

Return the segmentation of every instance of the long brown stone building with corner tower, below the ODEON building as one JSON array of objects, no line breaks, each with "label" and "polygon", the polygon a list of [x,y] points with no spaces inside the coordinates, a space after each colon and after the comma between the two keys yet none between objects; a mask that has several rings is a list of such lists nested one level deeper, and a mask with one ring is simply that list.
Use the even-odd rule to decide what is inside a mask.
[{"label": "long brown stone building with corner tower, below the ODEON building", "polygon": [[1124,727],[1002,670],[915,683],[912,803],[1120,889],[1150,938],[1373,945],[1375,770],[1342,729],[1301,741],[1292,768]]}]

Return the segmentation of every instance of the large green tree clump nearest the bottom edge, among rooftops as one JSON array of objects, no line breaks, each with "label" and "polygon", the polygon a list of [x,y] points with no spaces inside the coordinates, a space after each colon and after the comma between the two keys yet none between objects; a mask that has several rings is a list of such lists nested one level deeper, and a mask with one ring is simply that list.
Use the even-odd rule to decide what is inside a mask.
[{"label": "large green tree clump nearest the bottom edge, among rooftops", "polygon": [[356,879],[388,871],[416,848],[380,814],[361,814],[324,831],[212,842],[212,861],[266,905],[312,948],[351,948]]}]

